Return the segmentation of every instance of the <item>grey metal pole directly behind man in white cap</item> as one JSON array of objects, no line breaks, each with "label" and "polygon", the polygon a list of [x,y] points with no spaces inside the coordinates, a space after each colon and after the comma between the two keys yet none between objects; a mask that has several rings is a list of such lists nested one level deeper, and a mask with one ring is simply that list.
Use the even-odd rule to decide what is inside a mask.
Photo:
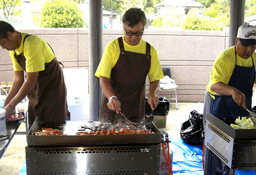
[{"label": "grey metal pole directly behind man in white cap", "polygon": [[244,24],[245,0],[230,1],[229,47],[235,45],[237,29]]}]

